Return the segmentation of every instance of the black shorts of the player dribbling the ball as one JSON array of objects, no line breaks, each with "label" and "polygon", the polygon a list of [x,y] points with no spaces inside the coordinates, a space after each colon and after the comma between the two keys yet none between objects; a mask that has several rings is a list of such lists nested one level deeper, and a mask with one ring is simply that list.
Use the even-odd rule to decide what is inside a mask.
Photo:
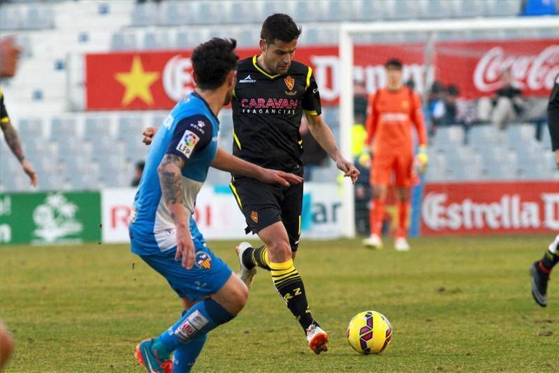
[{"label": "black shorts of the player dribbling the ball", "polygon": [[235,177],[229,184],[247,221],[247,234],[282,221],[291,250],[297,251],[301,234],[303,183],[289,187],[271,185],[249,177]]}]

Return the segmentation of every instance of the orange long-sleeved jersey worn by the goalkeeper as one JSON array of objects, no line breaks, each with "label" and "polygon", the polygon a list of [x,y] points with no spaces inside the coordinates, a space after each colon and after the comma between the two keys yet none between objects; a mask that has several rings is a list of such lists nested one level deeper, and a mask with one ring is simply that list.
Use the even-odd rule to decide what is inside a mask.
[{"label": "orange long-sleeved jersey worn by the goalkeeper", "polygon": [[419,95],[409,87],[398,91],[379,89],[370,95],[367,117],[366,144],[375,144],[375,153],[394,154],[412,152],[412,125],[419,145],[427,145],[427,134]]}]

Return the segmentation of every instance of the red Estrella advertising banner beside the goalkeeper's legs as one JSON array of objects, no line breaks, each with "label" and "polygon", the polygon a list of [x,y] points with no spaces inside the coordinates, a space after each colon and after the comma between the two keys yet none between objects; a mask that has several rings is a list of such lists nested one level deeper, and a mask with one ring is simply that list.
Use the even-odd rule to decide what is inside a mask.
[{"label": "red Estrella advertising banner beside the goalkeeper's legs", "polygon": [[421,235],[557,233],[559,182],[426,184]]}]

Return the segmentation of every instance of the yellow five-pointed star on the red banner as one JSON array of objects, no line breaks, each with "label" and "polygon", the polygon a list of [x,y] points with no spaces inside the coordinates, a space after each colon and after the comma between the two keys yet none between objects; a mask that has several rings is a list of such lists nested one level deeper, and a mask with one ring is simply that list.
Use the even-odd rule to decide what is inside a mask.
[{"label": "yellow five-pointed star on the red banner", "polygon": [[134,56],[129,73],[116,73],[115,79],[126,87],[126,92],[124,92],[122,97],[123,106],[131,103],[136,97],[139,97],[147,105],[153,104],[150,86],[159,79],[159,73],[147,73],[144,71],[140,56]]}]

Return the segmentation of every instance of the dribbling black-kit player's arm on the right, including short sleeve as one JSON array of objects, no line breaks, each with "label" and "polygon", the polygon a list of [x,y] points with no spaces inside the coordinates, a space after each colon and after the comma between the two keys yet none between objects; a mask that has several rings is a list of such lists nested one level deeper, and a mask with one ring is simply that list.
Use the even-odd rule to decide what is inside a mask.
[{"label": "dribbling black-kit player's arm on the right, including short sleeve", "polygon": [[310,68],[305,85],[305,95],[303,96],[303,111],[305,112],[312,137],[328,153],[328,156],[335,161],[337,168],[344,173],[344,176],[351,177],[351,182],[355,184],[359,171],[353,163],[344,159],[340,150],[337,149],[330,127],[322,119],[319,87],[316,80],[314,80],[314,75],[312,75]]}]

